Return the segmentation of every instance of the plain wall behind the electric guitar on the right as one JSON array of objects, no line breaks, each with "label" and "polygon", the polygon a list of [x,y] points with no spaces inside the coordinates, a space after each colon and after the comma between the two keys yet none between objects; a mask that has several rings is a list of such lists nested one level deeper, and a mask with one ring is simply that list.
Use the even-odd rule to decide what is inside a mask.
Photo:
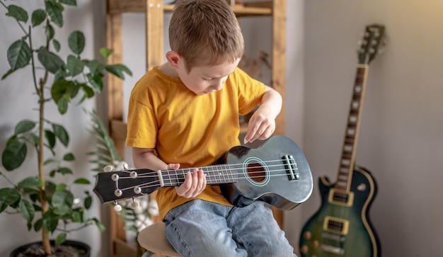
[{"label": "plain wall behind the electric guitar on the right", "polygon": [[[443,2],[305,1],[304,149],[335,181],[364,26],[386,25],[369,67],[357,164],[379,185],[370,217],[383,256],[443,253]],[[289,57],[290,58],[290,57]],[[319,207],[318,190],[302,206]]]}]

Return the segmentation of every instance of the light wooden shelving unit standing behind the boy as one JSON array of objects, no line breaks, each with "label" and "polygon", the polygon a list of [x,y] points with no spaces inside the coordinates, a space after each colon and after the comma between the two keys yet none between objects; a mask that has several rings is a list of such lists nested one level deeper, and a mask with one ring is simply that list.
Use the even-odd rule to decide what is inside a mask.
[{"label": "light wooden shelving unit standing behind the boy", "polygon": [[[110,63],[122,63],[122,14],[146,13],[146,71],[163,64],[163,14],[172,12],[173,5],[163,0],[106,0],[106,42],[113,49]],[[239,19],[246,16],[272,17],[272,88],[285,96],[285,51],[286,51],[286,0],[247,1],[231,6]],[[127,126],[123,122],[123,81],[108,77],[108,122],[109,132],[115,146],[124,156]],[[276,135],[284,135],[284,105],[277,117]],[[112,257],[135,256],[133,246],[126,244],[124,223],[110,210],[110,244]],[[282,212],[275,210],[275,218],[282,225]]]}]

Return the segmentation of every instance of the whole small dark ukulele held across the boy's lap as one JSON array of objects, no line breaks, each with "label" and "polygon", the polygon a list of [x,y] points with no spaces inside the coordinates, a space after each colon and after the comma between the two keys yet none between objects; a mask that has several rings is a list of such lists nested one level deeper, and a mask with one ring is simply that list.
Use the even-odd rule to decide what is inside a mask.
[{"label": "whole small dark ukulele held across the boy's lap", "polygon": [[[233,147],[224,164],[198,167],[207,184],[220,185],[224,197],[236,206],[263,200],[291,210],[312,193],[311,169],[301,149],[291,139],[273,136],[257,149]],[[167,186],[181,185],[194,168],[151,171],[134,169],[98,173],[93,189],[102,203],[148,195]],[[137,207],[135,205],[134,207]]]}]

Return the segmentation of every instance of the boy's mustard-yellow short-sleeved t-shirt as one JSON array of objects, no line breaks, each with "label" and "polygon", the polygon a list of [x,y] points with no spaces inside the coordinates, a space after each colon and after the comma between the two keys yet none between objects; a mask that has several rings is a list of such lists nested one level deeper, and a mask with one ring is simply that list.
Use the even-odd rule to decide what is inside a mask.
[{"label": "boy's mustard-yellow short-sleeved t-shirt", "polygon": [[[132,89],[127,118],[128,147],[154,148],[166,164],[180,169],[214,164],[238,140],[238,114],[250,113],[265,86],[241,69],[228,76],[221,91],[197,96],[177,77],[154,67]],[[218,185],[207,185],[197,199],[231,205]],[[163,219],[173,207],[195,198],[177,195],[175,188],[158,190]]]}]

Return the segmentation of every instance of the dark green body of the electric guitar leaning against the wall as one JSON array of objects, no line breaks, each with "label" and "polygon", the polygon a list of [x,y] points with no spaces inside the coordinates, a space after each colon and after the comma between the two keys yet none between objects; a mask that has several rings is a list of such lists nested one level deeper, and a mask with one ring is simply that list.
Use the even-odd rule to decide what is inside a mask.
[{"label": "dark green body of the electric guitar leaning against the wall", "polygon": [[[357,168],[352,173],[352,202],[344,206],[331,201],[334,185],[328,178],[318,179],[321,207],[306,222],[300,238],[301,257],[379,257],[380,244],[369,221],[369,207],[376,195],[376,181],[369,171]],[[345,229],[335,231],[328,222],[341,222]]]}]

